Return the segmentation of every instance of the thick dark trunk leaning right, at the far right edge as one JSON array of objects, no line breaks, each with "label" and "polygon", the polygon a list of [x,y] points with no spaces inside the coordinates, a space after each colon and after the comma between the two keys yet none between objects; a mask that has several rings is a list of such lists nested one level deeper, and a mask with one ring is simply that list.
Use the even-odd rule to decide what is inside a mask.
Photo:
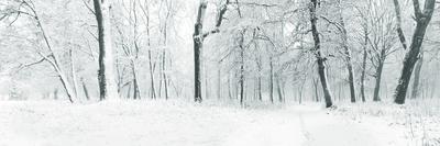
[{"label": "thick dark trunk leaning right, at the far right edge", "polygon": [[406,92],[408,89],[409,80],[411,78],[414,66],[417,61],[417,57],[419,56],[420,47],[424,43],[425,33],[429,25],[429,22],[431,21],[433,9],[436,7],[436,0],[426,0],[425,9],[421,11],[418,0],[413,0],[413,2],[417,26],[413,35],[413,42],[409,46],[409,50],[405,55],[404,67],[402,69],[400,78],[394,94],[394,102],[397,104],[405,103]]}]

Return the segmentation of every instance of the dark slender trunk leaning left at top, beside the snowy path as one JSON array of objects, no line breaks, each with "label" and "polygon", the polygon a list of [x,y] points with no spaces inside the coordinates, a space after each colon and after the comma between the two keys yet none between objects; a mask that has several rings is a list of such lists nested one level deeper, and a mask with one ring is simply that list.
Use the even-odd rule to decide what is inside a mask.
[{"label": "dark slender trunk leaning left at top, beside the snowy path", "polygon": [[322,90],[323,90],[323,97],[326,99],[326,108],[330,108],[333,105],[332,101],[331,101],[331,92],[330,92],[330,87],[328,85],[328,80],[327,80],[327,72],[326,72],[326,58],[322,57],[321,55],[321,50],[320,50],[320,38],[319,38],[319,32],[317,29],[317,14],[316,14],[316,9],[318,7],[318,1],[317,0],[310,0],[311,3],[309,5],[309,10],[310,10],[310,24],[311,24],[311,33],[314,36],[314,41],[315,41],[315,55],[317,58],[317,63],[318,63],[318,75],[319,78],[321,80],[321,86],[322,86]]}]

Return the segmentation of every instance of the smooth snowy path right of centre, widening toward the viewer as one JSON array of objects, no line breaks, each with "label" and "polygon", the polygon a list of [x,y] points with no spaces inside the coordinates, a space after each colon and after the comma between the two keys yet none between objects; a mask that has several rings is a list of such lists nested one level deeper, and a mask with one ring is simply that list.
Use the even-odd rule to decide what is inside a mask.
[{"label": "smooth snowy path right of centre, widening toward the viewer", "polygon": [[224,146],[378,146],[373,133],[319,109],[297,108],[249,125]]}]

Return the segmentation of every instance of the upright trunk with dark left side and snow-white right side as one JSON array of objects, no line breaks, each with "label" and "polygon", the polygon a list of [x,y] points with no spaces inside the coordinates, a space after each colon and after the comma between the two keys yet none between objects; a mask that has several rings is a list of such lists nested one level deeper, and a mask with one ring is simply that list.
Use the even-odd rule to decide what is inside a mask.
[{"label": "upright trunk with dark left side and snow-white right side", "polygon": [[94,0],[95,15],[98,23],[99,43],[99,98],[119,99],[113,77],[112,41],[110,32],[110,3],[108,0]]}]

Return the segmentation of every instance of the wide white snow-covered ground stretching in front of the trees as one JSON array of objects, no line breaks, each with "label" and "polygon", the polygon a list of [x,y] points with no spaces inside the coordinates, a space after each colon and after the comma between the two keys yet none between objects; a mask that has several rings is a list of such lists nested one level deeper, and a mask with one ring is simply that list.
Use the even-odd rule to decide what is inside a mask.
[{"label": "wide white snow-covered ground stretching in front of the trees", "polygon": [[0,146],[411,146],[362,106],[234,108],[179,101],[1,101]]}]

